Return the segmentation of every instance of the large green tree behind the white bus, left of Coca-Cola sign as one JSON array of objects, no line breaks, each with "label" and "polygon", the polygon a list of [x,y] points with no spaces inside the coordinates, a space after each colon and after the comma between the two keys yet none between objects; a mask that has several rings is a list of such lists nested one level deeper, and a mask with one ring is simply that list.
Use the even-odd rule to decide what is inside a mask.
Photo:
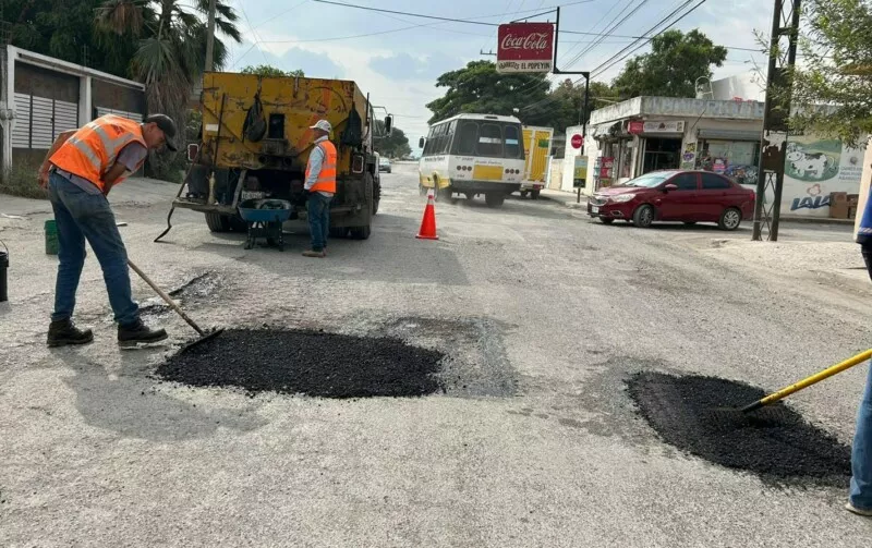
[{"label": "large green tree behind the white bus, left of Coca-Cola sign", "polygon": [[[514,115],[514,109],[546,99],[550,83],[545,74],[499,74],[491,61],[472,61],[439,76],[436,87],[448,89],[444,97],[427,103],[433,111],[429,123],[461,112]],[[536,106],[526,115],[536,118],[545,108],[544,103]]]}]

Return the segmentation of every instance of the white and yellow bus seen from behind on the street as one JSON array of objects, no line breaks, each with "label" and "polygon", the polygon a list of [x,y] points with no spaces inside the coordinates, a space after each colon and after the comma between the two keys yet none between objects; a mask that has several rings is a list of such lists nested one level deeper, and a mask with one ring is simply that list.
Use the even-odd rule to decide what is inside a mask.
[{"label": "white and yellow bus seen from behind on the street", "polygon": [[419,186],[436,190],[440,199],[484,194],[491,207],[521,188],[524,146],[521,121],[514,117],[458,114],[431,126],[421,137]]}]

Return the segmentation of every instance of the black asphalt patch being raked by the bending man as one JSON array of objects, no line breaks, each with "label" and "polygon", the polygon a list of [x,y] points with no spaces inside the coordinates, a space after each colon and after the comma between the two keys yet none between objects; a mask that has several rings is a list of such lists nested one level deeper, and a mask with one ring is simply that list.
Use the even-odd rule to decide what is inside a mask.
[{"label": "black asphalt patch being raked by the bending man", "polygon": [[172,355],[157,376],[194,387],[235,387],[324,398],[412,397],[441,389],[444,355],[399,339],[322,331],[229,329]]}]

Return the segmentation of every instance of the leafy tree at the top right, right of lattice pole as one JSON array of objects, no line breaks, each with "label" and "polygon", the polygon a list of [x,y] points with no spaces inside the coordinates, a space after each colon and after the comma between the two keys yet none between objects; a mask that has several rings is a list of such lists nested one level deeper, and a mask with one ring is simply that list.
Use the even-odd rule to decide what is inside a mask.
[{"label": "leafy tree at the top right, right of lattice pole", "polygon": [[779,103],[792,96],[791,131],[862,146],[872,134],[872,5],[811,0],[803,8],[801,62],[774,86],[773,99]]}]

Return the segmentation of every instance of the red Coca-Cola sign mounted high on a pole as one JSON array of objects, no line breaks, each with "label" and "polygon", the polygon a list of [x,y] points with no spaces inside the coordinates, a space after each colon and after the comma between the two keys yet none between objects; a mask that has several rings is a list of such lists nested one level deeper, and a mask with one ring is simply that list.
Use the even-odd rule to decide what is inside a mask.
[{"label": "red Coca-Cola sign mounted high on a pole", "polygon": [[549,72],[554,59],[554,24],[499,25],[497,72]]}]

